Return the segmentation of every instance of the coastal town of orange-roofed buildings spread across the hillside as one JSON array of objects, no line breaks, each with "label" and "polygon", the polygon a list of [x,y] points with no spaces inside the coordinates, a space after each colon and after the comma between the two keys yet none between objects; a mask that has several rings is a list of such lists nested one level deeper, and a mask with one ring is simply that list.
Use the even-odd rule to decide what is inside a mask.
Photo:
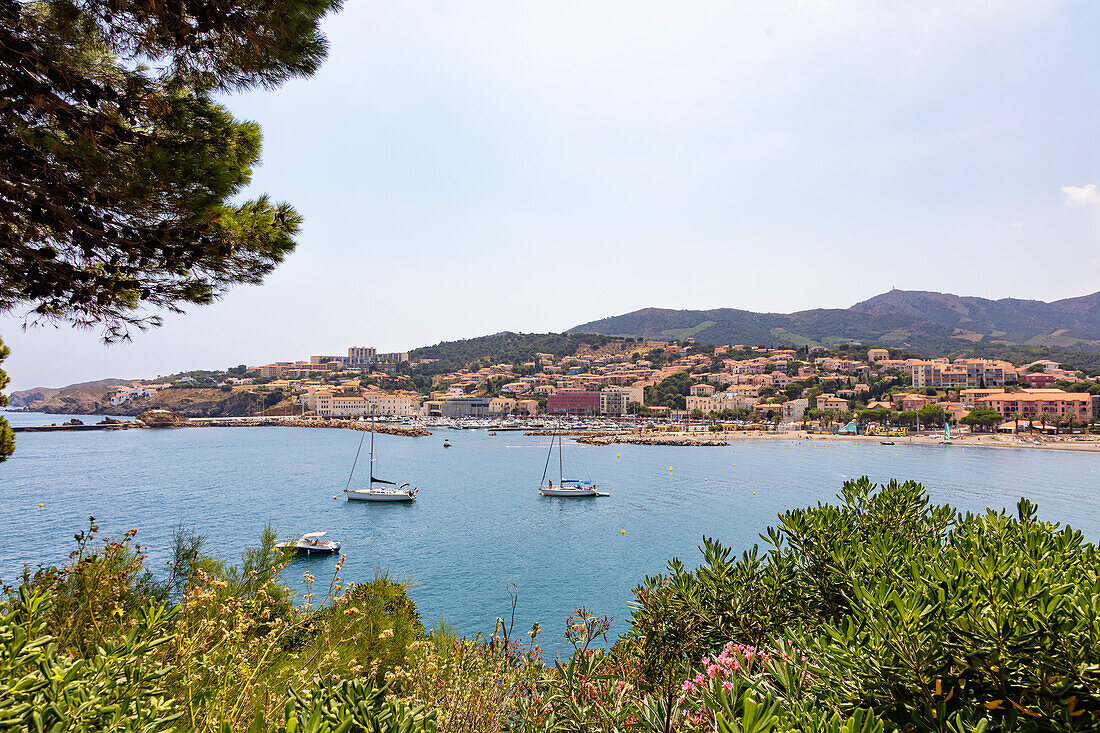
[{"label": "coastal town of orange-roofed buildings spread across the hillside", "polygon": [[[134,382],[113,407],[213,389],[249,416],[429,423],[562,418],[902,435],[942,429],[1064,434],[1100,416],[1100,383],[1049,360],[921,359],[883,348],[773,349],[606,339],[574,353],[433,369],[437,360],[352,347],[346,354]],[[430,375],[430,376],[429,376]],[[136,412],[134,412],[136,414]]]}]

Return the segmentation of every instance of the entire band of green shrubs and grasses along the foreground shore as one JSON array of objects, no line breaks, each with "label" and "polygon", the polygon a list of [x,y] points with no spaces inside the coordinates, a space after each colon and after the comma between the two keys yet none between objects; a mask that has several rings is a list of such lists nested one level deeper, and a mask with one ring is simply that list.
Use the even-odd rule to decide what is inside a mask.
[{"label": "entire band of green shrubs and grasses along the foreground shore", "polygon": [[[960,513],[914,482],[844,484],[759,547],[704,538],[634,590],[628,630],[578,609],[550,658],[507,612],[426,630],[399,580],[301,572],[264,532],[237,565],[177,533],[166,573],[92,521],[0,608],[8,729],[1088,731],[1100,557],[1072,528]],[[558,639],[554,639],[557,643]],[[560,644],[559,644],[560,648]]]}]

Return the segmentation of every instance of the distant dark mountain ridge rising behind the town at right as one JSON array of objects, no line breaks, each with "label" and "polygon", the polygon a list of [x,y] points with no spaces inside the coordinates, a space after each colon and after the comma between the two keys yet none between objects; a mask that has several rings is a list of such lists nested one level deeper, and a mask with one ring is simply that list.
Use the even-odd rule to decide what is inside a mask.
[{"label": "distant dark mountain ridge rising behind the town at right", "polygon": [[644,308],[566,333],[777,347],[858,341],[925,355],[1048,358],[1100,370],[1100,293],[1044,303],[894,289],[850,308],[790,314]]}]

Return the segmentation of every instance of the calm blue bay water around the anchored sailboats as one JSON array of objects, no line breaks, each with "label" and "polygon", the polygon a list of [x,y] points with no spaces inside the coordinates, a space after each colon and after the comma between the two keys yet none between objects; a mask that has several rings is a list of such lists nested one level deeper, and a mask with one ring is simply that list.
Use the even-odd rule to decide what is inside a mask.
[{"label": "calm blue bay water around the anchored sailboats", "polygon": [[[7,416],[16,425],[68,418]],[[442,448],[444,437],[453,448]],[[359,433],[316,428],[21,434],[15,455],[0,463],[0,580],[16,581],[24,565],[62,561],[91,515],[105,533],[139,528],[155,567],[180,524],[235,558],[270,522],[280,535],[329,532],[348,555],[345,580],[370,578],[377,568],[411,579],[429,625],[446,619],[463,633],[492,631],[494,620],[507,615],[514,582],[517,630],[540,621],[552,643],[574,605],[614,616],[613,631],[623,632],[630,589],[673,556],[694,565],[704,535],[740,550],[759,541],[784,507],[831,501],[846,478],[865,473],[920,480],[936,501],[969,510],[1011,507],[1026,495],[1044,518],[1100,537],[1100,453],[871,441],[673,448],[566,440],[566,473],[612,495],[563,500],[537,493],[548,438],[440,430],[377,439],[376,475],[418,485],[415,504],[333,501],[359,440]],[[311,558],[292,570],[320,578],[333,564]]]}]

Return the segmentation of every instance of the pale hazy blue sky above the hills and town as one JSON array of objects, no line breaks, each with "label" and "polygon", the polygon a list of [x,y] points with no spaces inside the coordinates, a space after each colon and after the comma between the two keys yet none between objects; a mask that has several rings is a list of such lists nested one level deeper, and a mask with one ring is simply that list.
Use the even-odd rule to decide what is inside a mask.
[{"label": "pale hazy blue sky above the hills and town", "polygon": [[0,317],[10,390],[891,287],[1100,289],[1100,3],[346,0],[227,106],[305,217],[131,342]]}]

